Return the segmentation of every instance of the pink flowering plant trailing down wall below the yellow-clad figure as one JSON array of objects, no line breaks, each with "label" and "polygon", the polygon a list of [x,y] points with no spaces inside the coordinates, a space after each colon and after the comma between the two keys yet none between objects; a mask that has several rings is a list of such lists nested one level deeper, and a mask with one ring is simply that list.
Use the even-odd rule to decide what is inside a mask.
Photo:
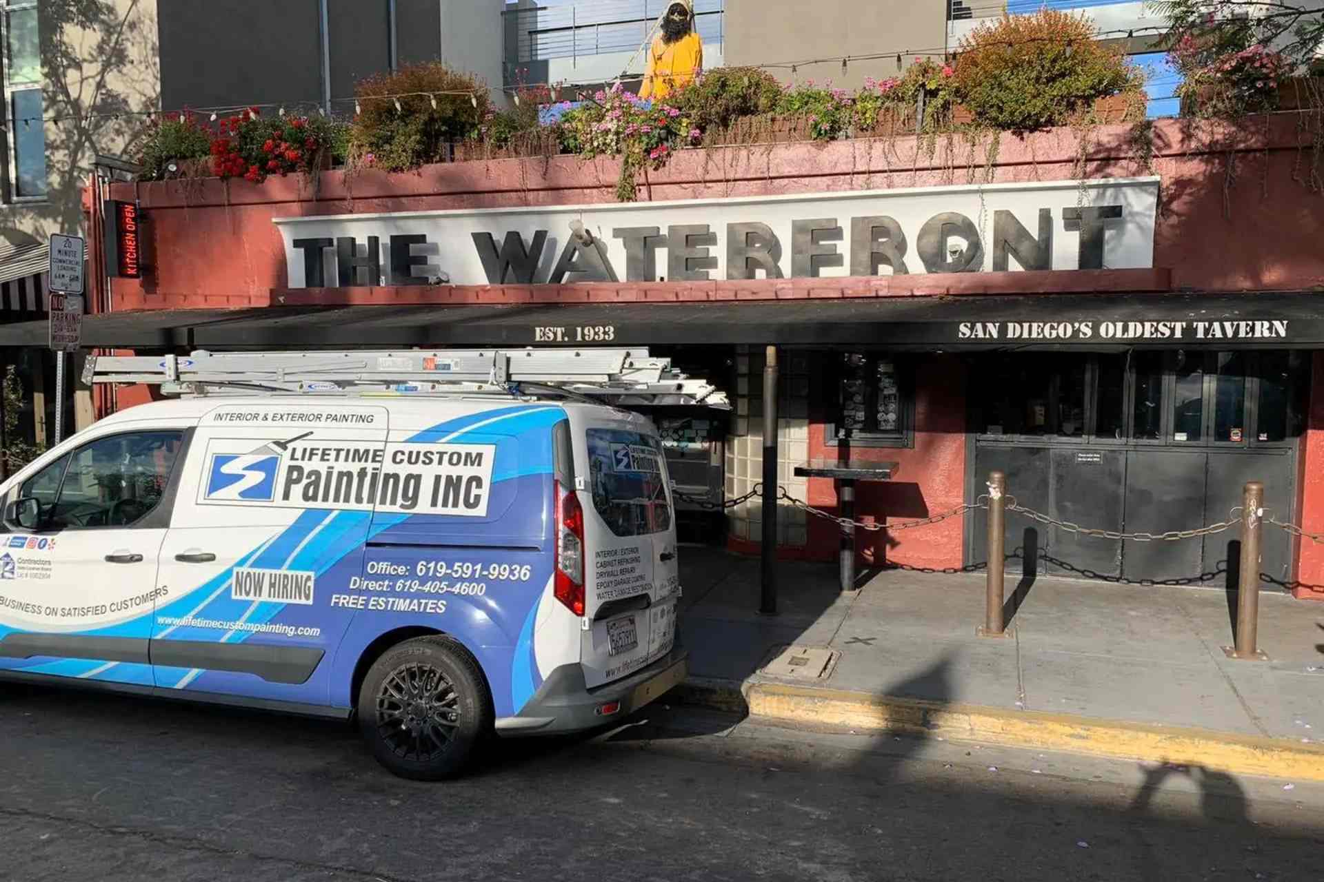
[{"label": "pink flowering plant trailing down wall below the yellow-clad figure", "polygon": [[559,126],[568,152],[584,159],[621,157],[616,196],[622,202],[637,196],[639,172],[662,168],[673,152],[703,140],[703,132],[679,107],[641,99],[620,83],[567,108]]}]

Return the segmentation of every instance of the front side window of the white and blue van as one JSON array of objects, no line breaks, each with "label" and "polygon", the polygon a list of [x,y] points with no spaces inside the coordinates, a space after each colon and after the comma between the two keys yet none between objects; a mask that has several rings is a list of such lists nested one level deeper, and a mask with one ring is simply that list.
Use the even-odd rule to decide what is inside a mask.
[{"label": "front side window of the white and blue van", "polygon": [[[130,526],[142,520],[166,492],[183,436],[179,431],[127,432],[79,447],[65,458],[69,467],[53,501],[37,496],[44,526]],[[25,484],[24,495],[29,485],[45,487],[46,471],[57,465]]]}]

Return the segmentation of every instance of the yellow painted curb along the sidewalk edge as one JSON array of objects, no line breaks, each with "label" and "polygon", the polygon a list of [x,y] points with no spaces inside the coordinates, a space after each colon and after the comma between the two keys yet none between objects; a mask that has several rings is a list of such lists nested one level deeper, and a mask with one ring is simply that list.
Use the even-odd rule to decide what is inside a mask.
[{"label": "yellow painted curb along the sidewalk edge", "polygon": [[1205,766],[1237,775],[1324,782],[1324,744],[1316,743],[786,684],[752,682],[739,692],[744,693],[751,715],[773,722],[941,735],[1009,747]]}]

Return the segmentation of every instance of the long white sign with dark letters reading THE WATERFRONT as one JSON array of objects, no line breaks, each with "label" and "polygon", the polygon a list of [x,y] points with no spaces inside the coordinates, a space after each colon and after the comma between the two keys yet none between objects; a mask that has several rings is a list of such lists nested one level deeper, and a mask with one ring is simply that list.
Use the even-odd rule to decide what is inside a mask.
[{"label": "long white sign with dark letters reading THE WATERFRONT", "polygon": [[295,288],[1147,268],[1157,194],[1144,177],[275,222]]}]

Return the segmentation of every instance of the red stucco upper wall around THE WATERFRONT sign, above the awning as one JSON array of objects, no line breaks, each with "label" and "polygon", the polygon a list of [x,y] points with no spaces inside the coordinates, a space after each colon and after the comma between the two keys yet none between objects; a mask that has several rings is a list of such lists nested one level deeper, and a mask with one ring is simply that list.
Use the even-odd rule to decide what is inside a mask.
[{"label": "red stucco upper wall around THE WATERFRONT sign, above the awning", "polygon": [[[1305,288],[1324,284],[1317,230],[1324,198],[1303,184],[1311,172],[1311,134],[1295,114],[1241,127],[1160,120],[1153,159],[1137,159],[1131,128],[1094,130],[1078,163],[1080,139],[1070,128],[1025,139],[1002,135],[988,168],[993,182],[1162,177],[1155,266],[1173,271],[1177,288]],[[1235,165],[1227,175],[1230,148]],[[916,139],[834,144],[755,145],[682,151],[650,172],[642,200],[817,193],[888,186],[973,182],[985,176],[988,149],[961,136],[936,149]],[[967,165],[973,160],[973,167]],[[314,189],[299,176],[262,185],[242,180],[143,184],[155,264],[144,283],[115,282],[117,308],[266,304],[287,286],[273,217],[608,202],[617,165],[548,160],[490,160],[432,165],[414,175],[326,172]],[[117,198],[134,198],[131,185]],[[1264,243],[1272,243],[1271,258]]]}]

